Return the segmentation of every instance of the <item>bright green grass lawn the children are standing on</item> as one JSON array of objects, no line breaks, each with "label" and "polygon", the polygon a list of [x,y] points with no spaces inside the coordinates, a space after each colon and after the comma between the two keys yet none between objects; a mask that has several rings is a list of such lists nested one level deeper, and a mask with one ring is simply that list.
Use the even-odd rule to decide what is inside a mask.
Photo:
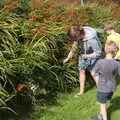
[{"label": "bright green grass lawn the children are standing on", "polygon": [[[60,94],[54,104],[36,105],[31,120],[90,120],[99,111],[96,88],[89,89],[83,96],[75,98],[78,88],[71,93]],[[108,108],[110,120],[120,120],[120,85]]]}]

